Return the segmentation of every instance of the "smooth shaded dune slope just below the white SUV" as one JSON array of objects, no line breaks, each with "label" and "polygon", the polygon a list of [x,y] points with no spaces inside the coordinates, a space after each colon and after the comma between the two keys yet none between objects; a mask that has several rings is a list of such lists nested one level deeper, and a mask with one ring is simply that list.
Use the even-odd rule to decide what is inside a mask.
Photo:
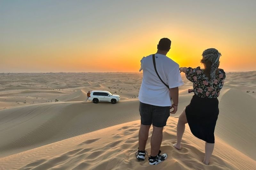
[{"label": "smooth shaded dune slope just below the white SUV", "polygon": [[1,110],[0,136],[4,138],[0,142],[0,156],[138,120],[138,107],[138,100],[135,100],[116,105],[44,103]]}]

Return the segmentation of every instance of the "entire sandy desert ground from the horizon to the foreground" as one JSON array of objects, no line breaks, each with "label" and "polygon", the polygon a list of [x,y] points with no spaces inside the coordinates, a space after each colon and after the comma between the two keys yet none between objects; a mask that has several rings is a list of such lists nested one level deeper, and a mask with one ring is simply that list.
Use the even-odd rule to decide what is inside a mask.
[{"label": "entire sandy desert ground from the horizon to the foreground", "polygon": [[[226,73],[209,166],[202,163],[204,142],[188,125],[182,149],[172,147],[177,117],[193,96],[182,76],[179,110],[164,128],[161,150],[168,158],[149,166],[135,158],[142,74],[0,73],[0,169],[256,169],[256,71]],[[85,102],[92,90],[121,101]]]}]

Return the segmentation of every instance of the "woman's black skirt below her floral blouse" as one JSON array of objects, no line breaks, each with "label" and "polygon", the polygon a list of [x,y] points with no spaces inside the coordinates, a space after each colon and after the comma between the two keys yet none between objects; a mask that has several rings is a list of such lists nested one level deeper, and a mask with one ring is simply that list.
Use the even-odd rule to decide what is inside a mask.
[{"label": "woman's black skirt below her floral blouse", "polygon": [[217,98],[193,96],[186,107],[186,116],[192,134],[207,143],[214,143],[214,129],[219,115]]}]

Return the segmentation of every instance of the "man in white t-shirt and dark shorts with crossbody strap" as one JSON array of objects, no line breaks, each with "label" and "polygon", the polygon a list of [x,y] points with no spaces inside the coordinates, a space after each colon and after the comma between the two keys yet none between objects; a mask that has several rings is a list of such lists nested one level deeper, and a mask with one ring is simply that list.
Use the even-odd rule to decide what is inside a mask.
[{"label": "man in white t-shirt and dark shorts with crossbody strap", "polygon": [[[151,152],[148,158],[150,165],[157,165],[167,158],[167,154],[160,154],[163,127],[166,125],[170,113],[175,114],[177,112],[179,86],[183,85],[179,64],[166,56],[170,49],[171,40],[162,38],[157,45],[157,52],[155,54],[158,75],[169,88],[164,85],[156,74],[153,55],[143,57],[140,61],[140,71],[143,70],[143,79],[139,92],[141,125],[139,131],[139,150],[136,153],[136,158],[145,160],[148,131],[151,124],[153,124]],[[171,108],[173,110],[170,112]]]}]

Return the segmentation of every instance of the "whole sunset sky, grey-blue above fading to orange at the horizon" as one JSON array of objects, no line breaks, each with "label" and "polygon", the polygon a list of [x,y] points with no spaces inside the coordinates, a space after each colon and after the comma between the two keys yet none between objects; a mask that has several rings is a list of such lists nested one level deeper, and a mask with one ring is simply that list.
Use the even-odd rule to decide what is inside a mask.
[{"label": "whole sunset sky, grey-blue above fading to orange at the horizon", "polygon": [[138,72],[163,37],[181,67],[216,48],[224,70],[256,70],[255,9],[255,0],[0,0],[0,72]]}]

